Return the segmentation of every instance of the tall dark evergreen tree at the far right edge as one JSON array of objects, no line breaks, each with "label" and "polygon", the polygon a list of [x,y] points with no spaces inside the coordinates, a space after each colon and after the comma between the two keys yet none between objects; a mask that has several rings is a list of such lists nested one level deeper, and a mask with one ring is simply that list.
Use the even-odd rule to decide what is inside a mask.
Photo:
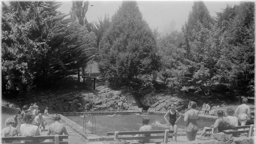
[{"label": "tall dark evergreen tree at the far right edge", "polygon": [[[255,4],[242,2],[233,9],[236,9],[236,15],[231,19],[225,19],[226,45],[222,50],[219,66],[222,68],[220,74],[223,75],[229,88],[240,96],[239,102],[241,102],[241,96],[254,94]],[[230,13],[233,15],[233,11]],[[231,15],[226,11],[221,14]]]}]

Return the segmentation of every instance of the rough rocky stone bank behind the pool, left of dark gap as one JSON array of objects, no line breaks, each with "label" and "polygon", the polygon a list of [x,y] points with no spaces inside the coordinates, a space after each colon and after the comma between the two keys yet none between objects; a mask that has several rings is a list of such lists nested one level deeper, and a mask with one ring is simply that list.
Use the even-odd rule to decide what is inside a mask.
[{"label": "rough rocky stone bank behind the pool, left of dark gap", "polygon": [[39,94],[31,96],[30,99],[20,99],[20,106],[30,105],[37,102],[39,110],[43,112],[48,107],[51,112],[94,112],[94,111],[116,111],[117,103],[122,100],[125,110],[135,110],[136,99],[132,92],[126,89],[112,90],[103,88],[100,91],[75,91],[68,94],[58,93]]}]

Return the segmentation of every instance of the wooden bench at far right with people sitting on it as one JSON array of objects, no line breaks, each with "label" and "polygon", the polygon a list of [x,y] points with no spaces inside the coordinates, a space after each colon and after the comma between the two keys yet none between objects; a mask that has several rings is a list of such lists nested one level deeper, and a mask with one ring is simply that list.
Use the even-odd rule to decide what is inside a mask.
[{"label": "wooden bench at far right with people sitting on it", "polygon": [[[255,126],[253,124],[245,125],[245,126],[237,126],[235,128],[231,128],[231,127],[225,127],[224,128],[224,127],[222,127],[222,128],[218,128],[218,131],[223,132],[225,134],[233,134],[233,135],[247,133],[247,137],[252,137],[254,127]],[[229,131],[229,130],[232,130],[232,131]],[[208,133],[204,134],[204,137],[198,137],[197,139],[200,139],[200,140],[210,139],[211,133],[214,132],[214,128],[206,129],[206,132],[208,132]]]}]

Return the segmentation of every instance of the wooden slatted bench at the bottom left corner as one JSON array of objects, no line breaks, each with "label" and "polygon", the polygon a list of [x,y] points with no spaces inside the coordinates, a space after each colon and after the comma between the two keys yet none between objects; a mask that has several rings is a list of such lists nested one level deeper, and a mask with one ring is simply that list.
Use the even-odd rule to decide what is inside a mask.
[{"label": "wooden slatted bench at the bottom left corner", "polygon": [[[29,144],[68,144],[68,142],[60,142],[59,139],[68,139],[68,135],[40,135],[40,136],[31,136],[31,137],[1,137],[2,141],[9,141],[9,140],[15,140],[15,141],[21,141],[21,140],[48,140],[53,139],[54,142],[34,142]],[[19,143],[9,143],[9,144],[20,144]]]}]

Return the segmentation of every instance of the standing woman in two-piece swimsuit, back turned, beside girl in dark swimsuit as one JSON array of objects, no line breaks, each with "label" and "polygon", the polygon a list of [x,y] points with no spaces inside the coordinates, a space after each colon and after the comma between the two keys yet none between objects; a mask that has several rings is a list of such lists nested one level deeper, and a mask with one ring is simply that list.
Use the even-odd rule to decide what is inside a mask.
[{"label": "standing woman in two-piece swimsuit, back turned, beside girl in dark swimsuit", "polygon": [[187,139],[188,141],[195,140],[197,131],[198,131],[198,126],[197,126],[197,118],[199,111],[195,110],[197,107],[196,102],[189,102],[188,105],[188,111],[184,115],[184,121],[187,123],[186,125],[186,134],[187,134]]}]

